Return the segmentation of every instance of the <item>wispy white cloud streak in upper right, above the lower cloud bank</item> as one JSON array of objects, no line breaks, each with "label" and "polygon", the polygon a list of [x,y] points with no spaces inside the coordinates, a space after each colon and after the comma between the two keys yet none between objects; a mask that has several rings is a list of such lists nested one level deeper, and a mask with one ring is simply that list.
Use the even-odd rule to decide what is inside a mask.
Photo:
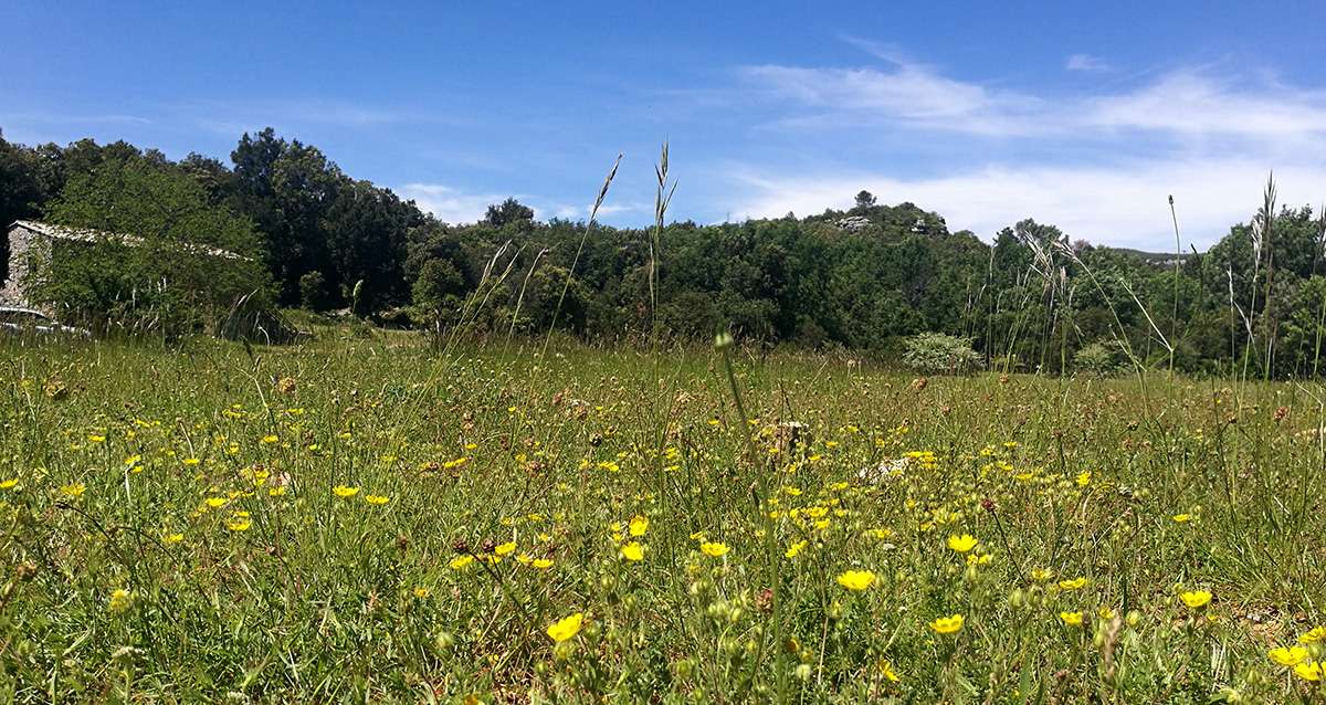
[{"label": "wispy white cloud streak in upper right, above the lower cloud bank", "polygon": [[891,69],[747,66],[756,95],[774,98],[774,125],[875,125],[997,138],[1116,138],[1123,130],[1204,138],[1326,134],[1326,91],[1177,70],[1130,90],[1036,95],[945,77],[923,64]]}]

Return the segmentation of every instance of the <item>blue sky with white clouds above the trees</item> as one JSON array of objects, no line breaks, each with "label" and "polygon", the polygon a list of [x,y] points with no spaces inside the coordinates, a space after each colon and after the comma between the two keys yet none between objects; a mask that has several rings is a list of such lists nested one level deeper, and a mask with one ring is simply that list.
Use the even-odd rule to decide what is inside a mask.
[{"label": "blue sky with white clouds above the trees", "polygon": [[1326,199],[1326,4],[936,5],[11,1],[0,129],[227,158],[271,125],[447,221],[585,217],[621,151],[605,220],[644,224],[663,139],[701,223],[867,188],[1166,249],[1168,193],[1197,246],[1270,170]]}]

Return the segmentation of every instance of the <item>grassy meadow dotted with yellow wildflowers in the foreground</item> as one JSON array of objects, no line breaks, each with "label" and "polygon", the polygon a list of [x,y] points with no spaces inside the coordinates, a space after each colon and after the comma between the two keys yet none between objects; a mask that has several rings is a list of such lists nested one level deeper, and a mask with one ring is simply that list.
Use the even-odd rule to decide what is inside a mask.
[{"label": "grassy meadow dotted with yellow wildflowers in the foreground", "polygon": [[1319,386],[517,347],[0,349],[0,696],[1326,698]]}]

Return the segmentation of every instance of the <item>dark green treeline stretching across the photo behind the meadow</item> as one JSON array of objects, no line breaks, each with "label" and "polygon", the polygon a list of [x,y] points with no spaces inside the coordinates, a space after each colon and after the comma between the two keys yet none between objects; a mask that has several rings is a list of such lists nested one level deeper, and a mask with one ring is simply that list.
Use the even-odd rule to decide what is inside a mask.
[{"label": "dark green treeline stretching across the photo behind the meadow", "polygon": [[464,311],[477,330],[554,326],[591,341],[640,339],[656,322],[674,338],[731,330],[751,343],[882,355],[935,331],[965,338],[998,370],[1319,370],[1326,219],[1277,207],[1270,192],[1208,252],[1181,254],[1074,243],[1034,220],[987,244],[867,192],[847,211],[809,217],[671,223],[659,237],[656,311],[647,229],[594,225],[586,239],[585,223],[537,221],[512,199],[477,223],[442,223],[271,129],[245,134],[228,164],[196,154],[171,162],[123,142],[0,140],[0,220],[131,227],[105,216],[125,209],[113,204],[126,172],[179,183],[179,197],[247,223],[252,244],[232,240],[261,262],[263,296],[285,307],[435,330]]}]

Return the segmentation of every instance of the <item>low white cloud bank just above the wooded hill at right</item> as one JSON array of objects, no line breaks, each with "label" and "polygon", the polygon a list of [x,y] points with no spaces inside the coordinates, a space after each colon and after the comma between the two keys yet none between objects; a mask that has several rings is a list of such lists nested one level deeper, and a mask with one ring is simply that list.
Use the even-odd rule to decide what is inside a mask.
[{"label": "low white cloud bank just above the wooded hill at right", "polygon": [[[1034,217],[1073,239],[1166,250],[1174,248],[1167,196],[1174,193],[1184,246],[1204,248],[1229,225],[1246,221],[1261,203],[1269,166],[1257,159],[1131,162],[1118,166],[1050,167],[992,164],[960,175],[906,179],[884,174],[757,176],[739,183],[748,196],[739,217],[778,217],[846,208],[865,188],[880,203],[912,201],[943,215],[951,231],[991,240],[1000,228]],[[1318,203],[1326,172],[1310,164],[1276,170],[1280,200]]]}]

